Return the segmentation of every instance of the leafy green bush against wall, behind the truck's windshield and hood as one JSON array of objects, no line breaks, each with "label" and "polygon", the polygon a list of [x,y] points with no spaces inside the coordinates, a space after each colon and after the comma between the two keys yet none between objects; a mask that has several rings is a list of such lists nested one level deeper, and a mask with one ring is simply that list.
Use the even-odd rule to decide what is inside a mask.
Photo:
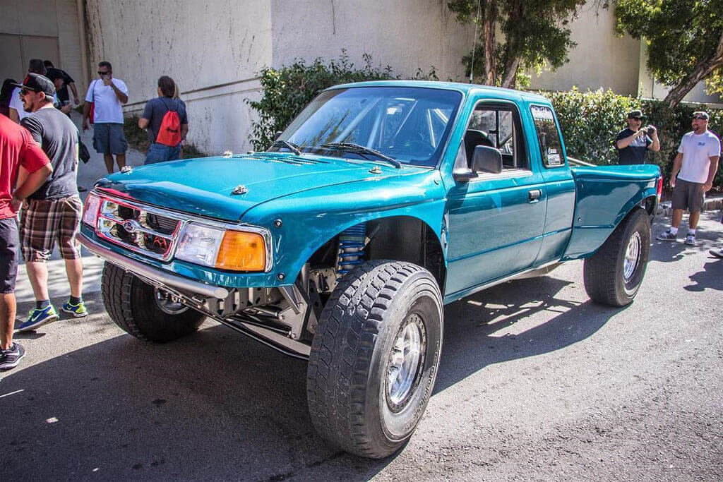
[{"label": "leafy green bush against wall, behind the truck's windshield and hood", "polygon": [[[263,95],[260,100],[246,100],[258,113],[258,120],[252,121],[249,140],[255,150],[265,150],[273,141],[276,132],[283,131],[301,110],[319,93],[332,85],[364,80],[398,79],[392,68],[372,66],[372,56],[364,53],[364,66],[356,69],[342,49],[338,61],[325,64],[316,59],[312,64],[297,60],[281,69],[267,67],[260,72]],[[435,68],[424,74],[418,69],[414,79],[437,80]]]}]

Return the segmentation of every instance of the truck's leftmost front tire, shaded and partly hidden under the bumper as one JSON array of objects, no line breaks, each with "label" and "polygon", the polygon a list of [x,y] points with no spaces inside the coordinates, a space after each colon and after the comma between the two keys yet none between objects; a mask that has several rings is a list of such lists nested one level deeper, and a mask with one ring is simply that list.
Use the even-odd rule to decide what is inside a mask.
[{"label": "truck's leftmost front tire, shaded and partly hidden under the bumper", "polygon": [[155,302],[153,286],[106,262],[100,281],[103,304],[111,319],[140,340],[165,343],[198,330],[205,316],[188,309],[168,314]]}]

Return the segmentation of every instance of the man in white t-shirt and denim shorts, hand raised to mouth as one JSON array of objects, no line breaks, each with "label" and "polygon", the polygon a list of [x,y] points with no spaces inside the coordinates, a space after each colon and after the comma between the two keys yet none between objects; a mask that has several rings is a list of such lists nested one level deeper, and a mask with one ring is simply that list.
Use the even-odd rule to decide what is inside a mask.
[{"label": "man in white t-shirt and denim shorts, hand raised to mouth", "polygon": [[108,61],[98,64],[98,79],[90,82],[83,106],[83,130],[87,130],[90,106],[93,104],[93,147],[103,154],[108,173],[113,172],[113,156],[118,168],[126,166],[128,142],[123,134],[123,104],[128,102],[128,87],[113,77]]}]

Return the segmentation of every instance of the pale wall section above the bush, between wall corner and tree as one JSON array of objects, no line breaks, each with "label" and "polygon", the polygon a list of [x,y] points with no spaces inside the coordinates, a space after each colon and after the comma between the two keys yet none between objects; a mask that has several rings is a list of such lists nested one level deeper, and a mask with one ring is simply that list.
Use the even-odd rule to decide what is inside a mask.
[{"label": "pale wall section above the bush, between wall corner and tree", "polygon": [[412,77],[434,66],[440,80],[460,80],[462,56],[472,50],[474,28],[460,25],[445,0],[272,0],[273,66],[294,59],[338,59],[341,49],[364,65]]}]

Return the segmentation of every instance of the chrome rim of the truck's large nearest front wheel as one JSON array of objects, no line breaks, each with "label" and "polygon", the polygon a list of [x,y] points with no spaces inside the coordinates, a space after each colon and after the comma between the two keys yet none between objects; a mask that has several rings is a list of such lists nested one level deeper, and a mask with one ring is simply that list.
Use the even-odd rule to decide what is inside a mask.
[{"label": "chrome rim of the truck's large nearest front wheel", "polygon": [[387,368],[387,403],[391,410],[402,410],[419,381],[424,365],[426,334],[422,318],[410,314],[397,332]]}]

